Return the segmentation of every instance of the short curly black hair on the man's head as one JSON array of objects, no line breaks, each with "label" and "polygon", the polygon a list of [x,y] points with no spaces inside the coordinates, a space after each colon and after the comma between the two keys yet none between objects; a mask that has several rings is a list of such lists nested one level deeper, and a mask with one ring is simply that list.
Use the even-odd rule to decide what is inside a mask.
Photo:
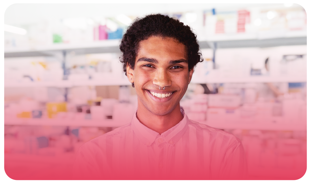
[{"label": "short curly black hair on the man's head", "polygon": [[179,20],[161,14],[151,14],[143,18],[137,18],[128,27],[120,44],[123,71],[126,74],[127,64],[134,69],[135,59],[138,54],[139,43],[150,36],[170,37],[178,40],[186,46],[189,71],[198,62],[202,62],[202,53],[199,49],[197,36],[188,25]]}]

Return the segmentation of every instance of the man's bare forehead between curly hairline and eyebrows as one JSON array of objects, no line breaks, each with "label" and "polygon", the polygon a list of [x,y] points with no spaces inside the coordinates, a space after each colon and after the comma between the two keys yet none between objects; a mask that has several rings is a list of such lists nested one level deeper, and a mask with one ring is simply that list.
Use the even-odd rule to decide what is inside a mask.
[{"label": "man's bare forehead between curly hairline and eyebrows", "polygon": [[171,37],[151,36],[139,43],[136,60],[140,57],[186,59],[186,47]]}]

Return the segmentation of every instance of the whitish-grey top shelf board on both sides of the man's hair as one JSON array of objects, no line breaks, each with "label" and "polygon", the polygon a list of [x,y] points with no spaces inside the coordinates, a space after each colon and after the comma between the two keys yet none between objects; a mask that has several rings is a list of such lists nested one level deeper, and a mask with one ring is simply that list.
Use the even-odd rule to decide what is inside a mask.
[{"label": "whitish-grey top shelf board on both sides of the man's hair", "polygon": [[[284,37],[272,39],[238,39],[235,40],[201,40],[199,45],[201,49],[213,48],[216,42],[216,48],[243,48],[243,47],[275,47],[283,45],[306,45],[307,37]],[[91,53],[120,53],[120,40],[111,39],[83,44],[53,44],[49,46],[36,46],[31,48],[10,48],[4,49],[4,57],[35,57],[35,56],[53,56],[55,52],[74,52],[75,54]]]}]

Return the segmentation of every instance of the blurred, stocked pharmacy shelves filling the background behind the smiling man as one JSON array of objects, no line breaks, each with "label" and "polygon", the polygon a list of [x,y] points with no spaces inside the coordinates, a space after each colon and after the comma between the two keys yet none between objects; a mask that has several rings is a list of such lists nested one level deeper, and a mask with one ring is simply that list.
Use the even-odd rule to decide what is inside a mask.
[{"label": "blurred, stocked pharmacy shelves filling the background behind the smiling man", "polygon": [[119,43],[150,13],[197,34],[204,62],[180,102],[189,119],[241,139],[251,179],[304,175],[309,12],[297,2],[3,7],[4,166],[12,179],[70,179],[79,146],[131,121],[137,95]]}]

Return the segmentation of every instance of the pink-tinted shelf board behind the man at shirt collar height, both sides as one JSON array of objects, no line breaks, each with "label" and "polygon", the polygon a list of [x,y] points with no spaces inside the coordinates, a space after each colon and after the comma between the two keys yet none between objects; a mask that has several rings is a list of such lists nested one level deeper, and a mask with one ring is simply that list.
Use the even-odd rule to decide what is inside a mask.
[{"label": "pink-tinted shelf board behind the man at shirt collar height, both sides", "polygon": [[[268,123],[256,122],[253,119],[242,119],[239,122],[221,121],[197,121],[218,129],[241,129],[241,130],[272,130],[272,131],[306,131],[307,124],[284,123],[282,118],[275,118]],[[72,126],[72,127],[121,127],[129,122],[118,123],[112,119],[102,121],[95,120],[67,120],[67,119],[32,119],[13,118],[4,119],[4,125],[23,126]]]}]

